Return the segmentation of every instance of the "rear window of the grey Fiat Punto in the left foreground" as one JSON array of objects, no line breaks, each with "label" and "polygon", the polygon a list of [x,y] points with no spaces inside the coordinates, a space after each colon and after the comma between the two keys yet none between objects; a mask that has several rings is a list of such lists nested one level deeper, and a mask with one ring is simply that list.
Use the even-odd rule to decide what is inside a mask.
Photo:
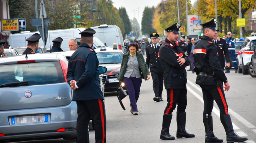
[{"label": "rear window of the grey Fiat Punto in the left foreground", "polygon": [[28,85],[65,82],[60,63],[40,62],[0,66],[0,85],[28,81]]}]

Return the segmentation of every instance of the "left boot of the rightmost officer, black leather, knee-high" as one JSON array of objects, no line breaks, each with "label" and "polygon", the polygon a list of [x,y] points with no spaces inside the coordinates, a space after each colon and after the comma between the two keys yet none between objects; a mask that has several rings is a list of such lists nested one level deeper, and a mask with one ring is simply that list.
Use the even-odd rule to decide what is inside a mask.
[{"label": "left boot of the rightmost officer, black leather, knee-high", "polygon": [[203,122],[205,128],[205,143],[222,143],[223,139],[215,137],[213,134],[212,116],[203,115]]}]

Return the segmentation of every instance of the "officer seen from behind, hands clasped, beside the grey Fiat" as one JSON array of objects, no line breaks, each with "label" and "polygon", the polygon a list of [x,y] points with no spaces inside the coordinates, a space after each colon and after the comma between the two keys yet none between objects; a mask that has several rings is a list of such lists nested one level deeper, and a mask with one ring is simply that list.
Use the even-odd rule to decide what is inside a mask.
[{"label": "officer seen from behind, hands clasped, beside the grey Fiat", "polygon": [[88,124],[92,117],[96,143],[106,143],[106,116],[103,94],[99,79],[99,61],[93,46],[93,34],[85,29],[81,34],[81,44],[72,54],[67,70],[67,81],[74,90],[73,101],[77,104],[77,142],[85,143],[88,137]]}]

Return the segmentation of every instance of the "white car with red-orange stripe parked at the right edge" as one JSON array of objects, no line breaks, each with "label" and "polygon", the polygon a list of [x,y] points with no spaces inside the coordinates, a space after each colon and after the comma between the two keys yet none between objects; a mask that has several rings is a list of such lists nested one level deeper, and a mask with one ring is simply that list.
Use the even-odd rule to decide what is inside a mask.
[{"label": "white car with red-orange stripe parked at the right edge", "polygon": [[248,74],[248,65],[251,62],[253,51],[250,47],[256,45],[256,36],[247,37],[244,40],[242,46],[238,45],[237,48],[240,49],[237,55],[238,63],[238,73],[243,73],[243,75]]}]

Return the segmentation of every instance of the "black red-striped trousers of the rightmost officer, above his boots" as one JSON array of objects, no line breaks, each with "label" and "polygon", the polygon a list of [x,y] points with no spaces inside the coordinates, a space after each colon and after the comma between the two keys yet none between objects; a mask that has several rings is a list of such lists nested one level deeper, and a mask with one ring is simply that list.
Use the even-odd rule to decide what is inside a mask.
[{"label": "black red-striped trousers of the rightmost officer, above his boots", "polygon": [[228,113],[228,104],[222,87],[216,85],[200,85],[203,91],[204,112],[203,115],[212,115],[213,100],[217,103],[220,109],[220,115]]}]

